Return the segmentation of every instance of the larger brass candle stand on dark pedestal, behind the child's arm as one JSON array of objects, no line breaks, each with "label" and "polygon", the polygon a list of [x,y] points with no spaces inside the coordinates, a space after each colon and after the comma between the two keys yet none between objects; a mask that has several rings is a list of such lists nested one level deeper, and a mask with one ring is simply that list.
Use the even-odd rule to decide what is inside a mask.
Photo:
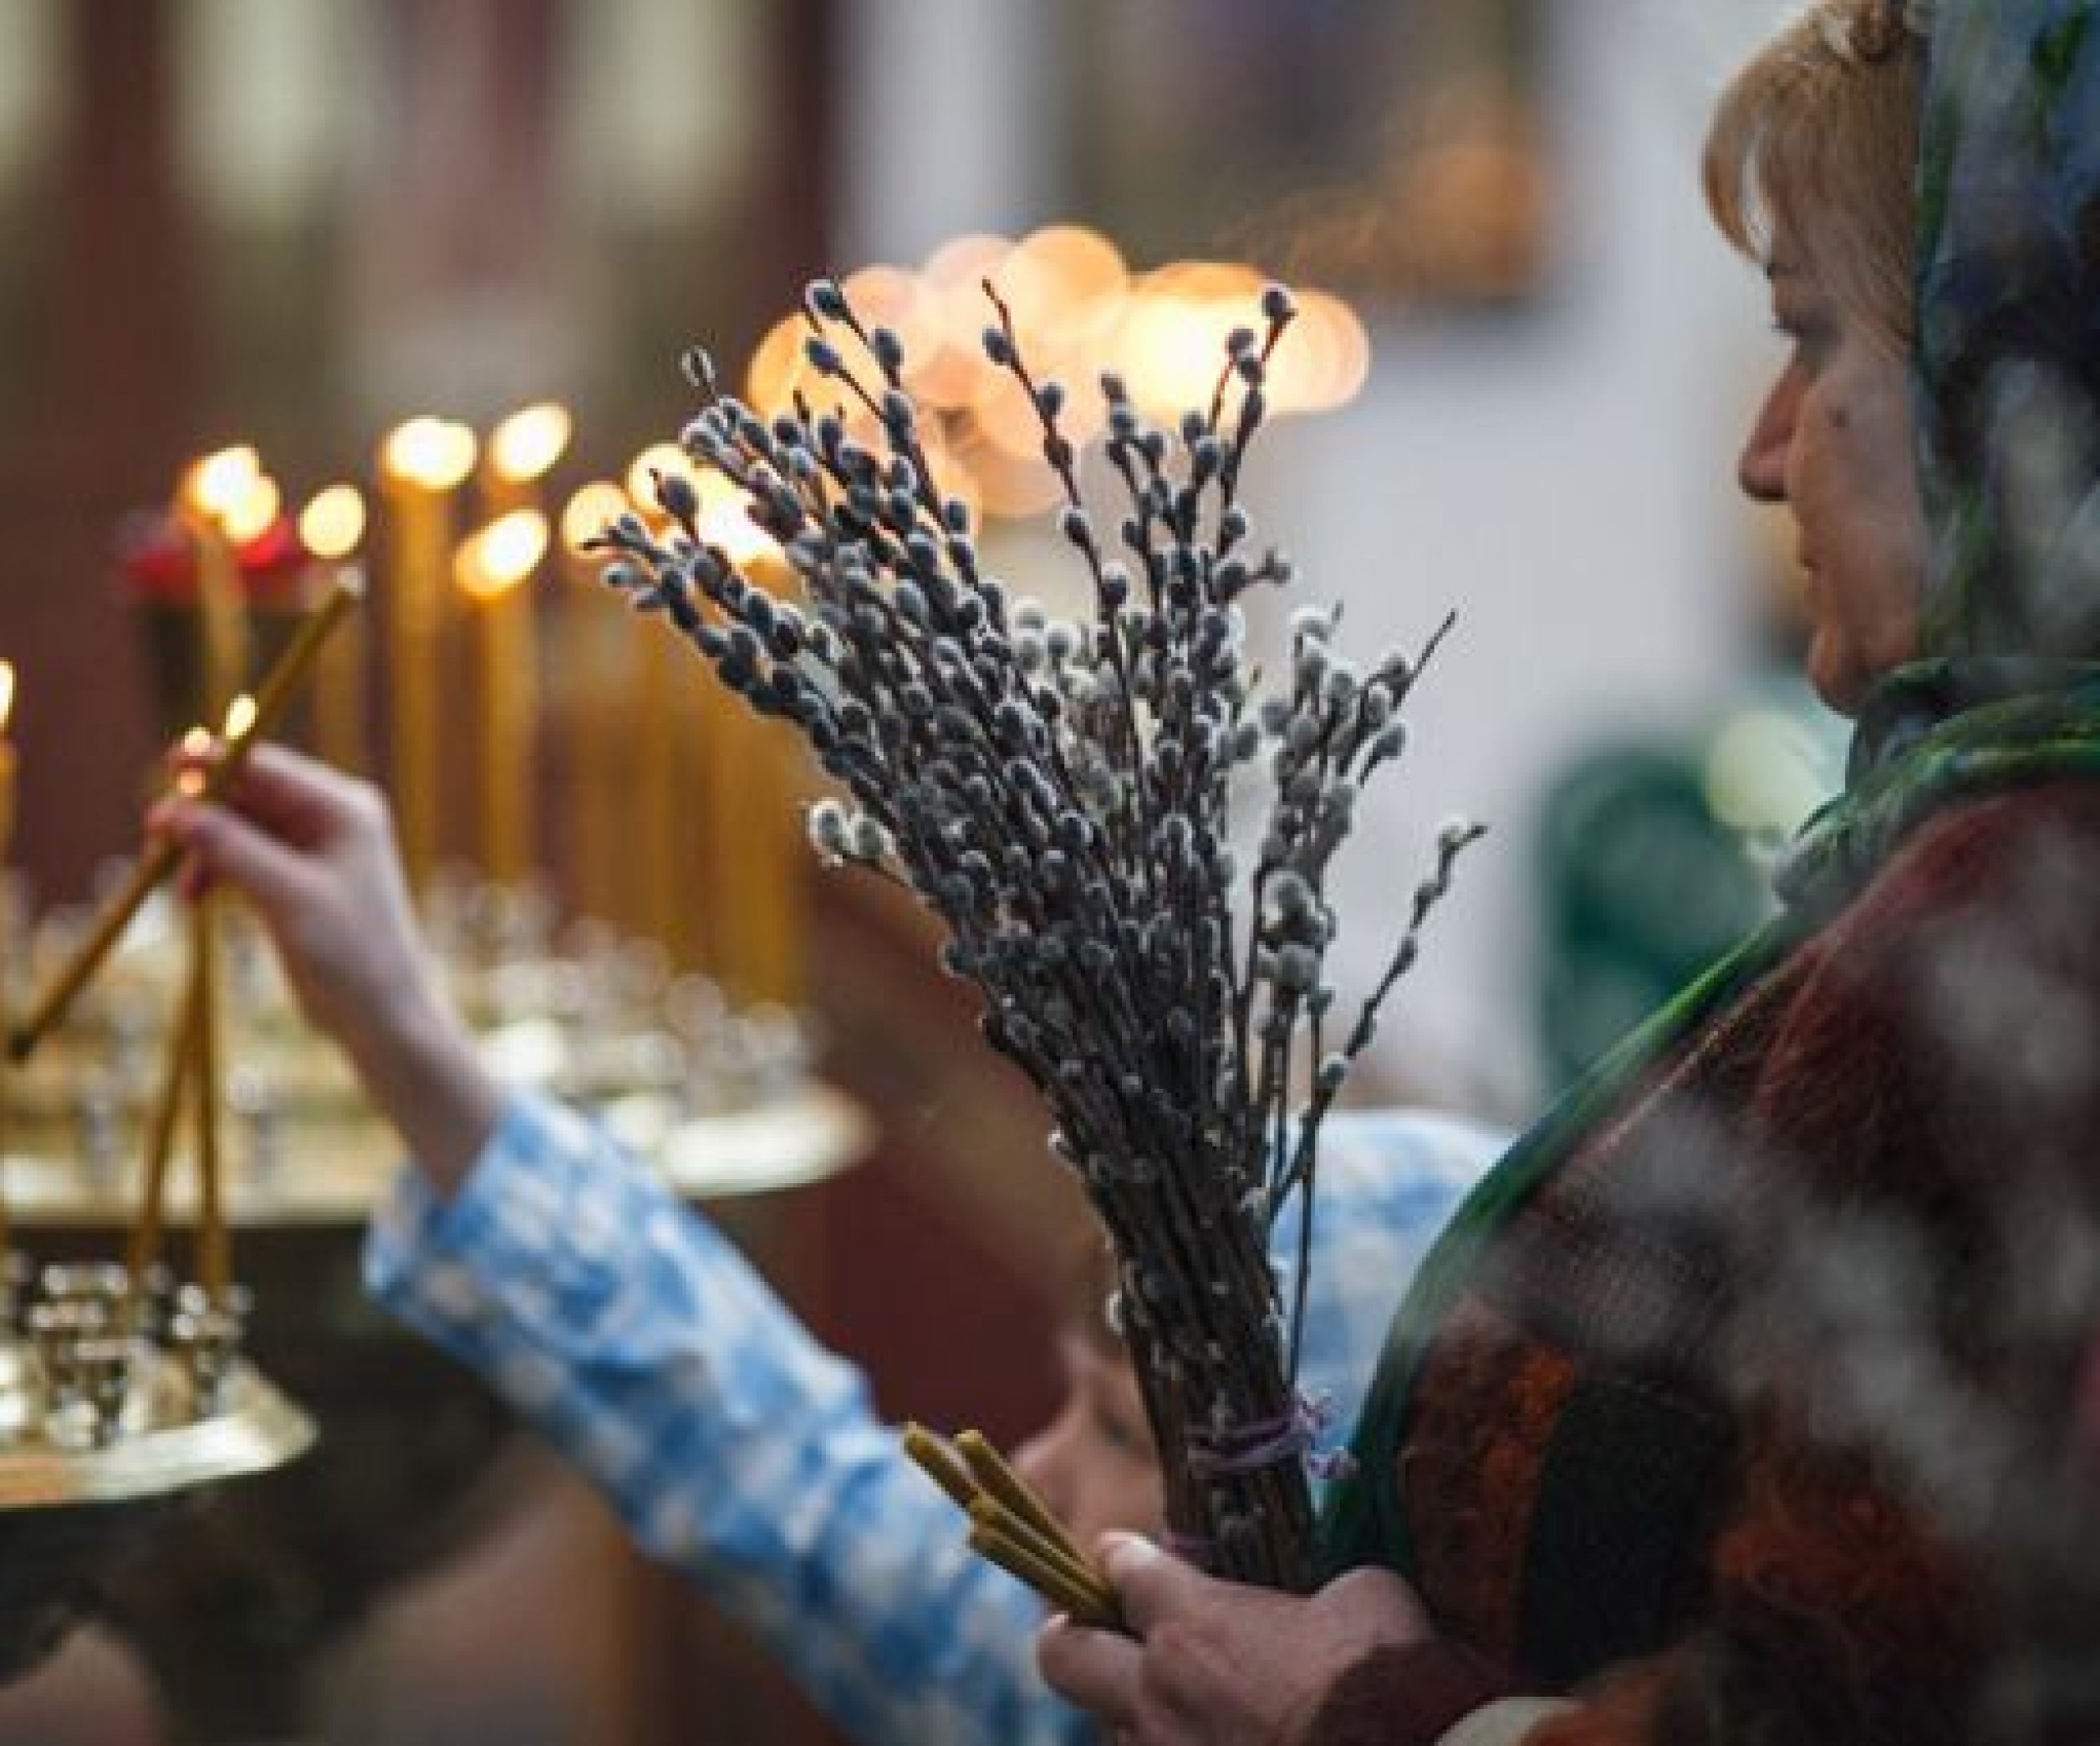
[{"label": "larger brass candle stand on dark pedestal, behind the child's arm", "polygon": [[[563,927],[529,889],[435,880],[424,931],[496,1072],[596,1111],[685,1198],[773,1193],[867,1149],[865,1116],[815,1080],[811,1042],[779,1009],[735,1006],[613,929]],[[50,914],[23,952],[48,975],[90,933],[92,916]],[[92,1265],[132,1219],[187,948],[185,912],[145,906],[17,1084],[10,1204],[23,1248],[46,1263]],[[223,918],[218,952],[223,1212],[254,1298],[246,1353],[296,1395],[319,1441],[153,1536],[151,1557],[103,1582],[97,1612],[141,1656],[174,1735],[229,1746],[311,1731],[311,1668],[519,1500],[504,1483],[508,1410],[363,1296],[361,1235],[401,1164],[397,1141],[300,1025],[252,916]],[[166,1229],[197,1210],[197,1172],[170,1170]],[[739,1217],[764,1229],[760,1208]],[[155,1301],[195,1294],[162,1286]]]}]

